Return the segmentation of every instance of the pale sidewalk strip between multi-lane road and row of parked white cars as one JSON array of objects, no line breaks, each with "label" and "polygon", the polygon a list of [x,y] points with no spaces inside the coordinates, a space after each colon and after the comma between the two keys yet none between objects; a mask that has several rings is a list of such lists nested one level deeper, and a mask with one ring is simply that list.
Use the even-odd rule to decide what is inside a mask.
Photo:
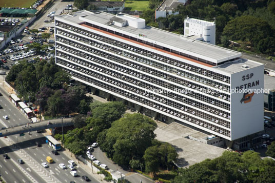
[{"label": "pale sidewalk strip between multi-lane road and row of parked white cars", "polygon": [[[46,129],[46,132],[43,133],[44,136],[47,135],[51,135],[51,131],[49,129]],[[91,168],[91,166],[88,166],[86,164],[84,164],[84,162],[82,162],[81,160],[76,159],[76,157],[74,156],[74,154],[72,154],[68,149],[63,148],[62,151],[69,159],[73,160],[76,163],[76,168],[81,167],[83,170],[85,170],[86,172],[88,172],[89,174],[87,175],[92,176],[93,178],[95,178],[96,180],[100,181],[100,182],[104,182],[104,183],[110,183],[106,180],[104,180],[104,175],[103,174],[97,174],[97,172],[99,172],[99,169],[97,169],[96,167],[93,166],[93,168]],[[91,165],[91,164],[89,164]]]}]

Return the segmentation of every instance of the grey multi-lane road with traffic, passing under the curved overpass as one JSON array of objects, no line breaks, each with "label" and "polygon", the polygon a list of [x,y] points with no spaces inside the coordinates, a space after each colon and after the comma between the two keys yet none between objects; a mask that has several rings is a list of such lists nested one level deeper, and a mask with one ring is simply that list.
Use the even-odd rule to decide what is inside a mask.
[{"label": "grey multi-lane road with traffic, passing under the curved overpass", "polygon": [[[4,92],[1,91],[3,94]],[[8,99],[8,96],[0,96],[0,127],[8,127],[15,124],[24,124],[28,119],[19,111]],[[8,115],[6,120],[2,116]],[[0,138],[0,168],[2,177],[8,182],[82,182],[82,175],[87,175],[92,182],[99,182],[91,177],[81,167],[76,166],[77,177],[70,175],[69,169],[61,169],[59,164],[68,165],[69,157],[62,151],[60,155],[53,155],[45,141],[45,136],[41,133],[31,132],[24,136],[12,135],[8,138]],[[37,147],[37,144],[42,147]],[[5,159],[3,155],[7,153],[10,159]],[[48,164],[49,168],[42,167],[41,163],[46,162],[46,157],[51,156],[53,164]],[[17,159],[23,159],[25,164],[18,164]],[[14,176],[16,175],[16,176]]]}]

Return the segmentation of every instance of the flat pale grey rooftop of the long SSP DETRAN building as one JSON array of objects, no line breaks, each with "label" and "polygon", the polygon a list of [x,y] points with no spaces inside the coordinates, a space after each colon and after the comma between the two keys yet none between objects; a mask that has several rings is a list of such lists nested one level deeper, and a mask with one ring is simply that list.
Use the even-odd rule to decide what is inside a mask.
[{"label": "flat pale grey rooftop of the long SSP DETRAN building", "polygon": [[[119,14],[119,15],[112,15],[106,12],[97,12],[92,13],[89,11],[78,11],[75,12],[74,15],[61,15],[57,16],[57,18],[65,19],[69,22],[75,24],[82,24],[82,23],[91,23],[94,24],[101,24],[102,27],[112,27],[120,32],[125,32],[128,35],[131,35],[136,38],[140,38],[142,40],[147,40],[148,42],[158,44],[158,45],[169,45],[169,48],[174,50],[179,50],[183,53],[187,53],[188,55],[192,56],[200,56],[203,59],[209,60],[210,62],[219,63],[224,62],[226,60],[232,58],[238,58],[242,54],[240,52],[229,50],[226,48],[222,48],[219,46],[214,46],[211,44],[203,43],[199,40],[191,39],[188,37],[184,37],[179,34],[174,34],[168,31],[164,31],[161,29],[145,26],[145,28],[135,28],[131,26],[125,27],[118,27],[110,24],[112,19],[133,19],[133,21],[140,22],[142,19],[133,17],[126,14]],[[143,37],[139,35],[143,34]],[[213,68],[222,70],[227,73],[235,73],[245,68],[242,68],[242,65],[249,65],[250,68],[262,65],[257,62],[253,62],[252,60],[247,59],[239,59],[234,62],[225,63],[219,66],[214,66]]]}]

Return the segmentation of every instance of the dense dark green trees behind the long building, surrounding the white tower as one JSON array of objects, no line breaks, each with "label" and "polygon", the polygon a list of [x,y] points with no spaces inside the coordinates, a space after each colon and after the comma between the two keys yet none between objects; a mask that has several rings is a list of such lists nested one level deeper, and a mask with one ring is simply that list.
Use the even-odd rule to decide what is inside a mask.
[{"label": "dense dark green trees behind the long building, surrounding the white tower", "polygon": [[[275,2],[192,0],[187,5],[179,5],[178,15],[168,15],[155,20],[158,0],[149,1],[149,9],[141,18],[149,26],[184,34],[186,16],[215,21],[216,44],[230,45],[229,39],[241,44],[241,49],[274,55],[275,51]],[[234,48],[238,49],[238,48]]]}]

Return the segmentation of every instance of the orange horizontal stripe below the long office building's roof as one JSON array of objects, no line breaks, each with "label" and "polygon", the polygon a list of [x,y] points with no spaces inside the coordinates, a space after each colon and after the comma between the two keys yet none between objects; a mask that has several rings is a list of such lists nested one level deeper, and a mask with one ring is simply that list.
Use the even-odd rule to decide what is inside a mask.
[{"label": "orange horizontal stripe below the long office building's roof", "polygon": [[154,49],[154,50],[158,50],[158,51],[161,51],[161,52],[164,52],[164,53],[167,53],[167,54],[176,56],[176,57],[180,57],[180,58],[187,59],[187,60],[189,60],[189,61],[191,61],[191,62],[194,62],[194,63],[198,63],[198,64],[201,64],[201,65],[204,65],[204,66],[207,66],[207,67],[213,67],[213,66],[210,65],[210,64],[206,64],[206,63],[203,63],[203,62],[199,62],[198,60],[195,60],[195,59],[192,59],[192,58],[188,58],[188,57],[186,57],[186,56],[178,55],[178,54],[171,53],[171,52],[169,52],[169,51],[166,51],[166,50],[163,50],[163,49],[160,49],[160,48],[156,48],[156,47],[153,47],[153,46],[150,46],[150,45],[146,45],[146,44],[137,42],[137,41],[135,41],[135,40],[132,40],[132,39],[129,39],[129,38],[120,36],[120,35],[116,35],[116,34],[113,34],[113,33],[110,33],[110,32],[104,31],[104,30],[101,30],[101,29],[97,29],[97,28],[88,26],[88,25],[86,25],[86,24],[81,24],[81,25],[84,26],[84,27],[88,27],[88,28],[90,28],[90,29],[96,30],[96,31],[103,32],[103,33],[105,33],[105,34],[109,34],[109,35],[114,36],[114,37],[118,37],[118,38],[121,38],[121,39],[124,39],[124,40],[128,40],[129,42],[132,42],[132,43],[135,43],[135,44],[138,44],[138,45],[142,45],[142,46],[145,46],[145,47],[148,47],[148,48],[151,48],[151,49]]}]

